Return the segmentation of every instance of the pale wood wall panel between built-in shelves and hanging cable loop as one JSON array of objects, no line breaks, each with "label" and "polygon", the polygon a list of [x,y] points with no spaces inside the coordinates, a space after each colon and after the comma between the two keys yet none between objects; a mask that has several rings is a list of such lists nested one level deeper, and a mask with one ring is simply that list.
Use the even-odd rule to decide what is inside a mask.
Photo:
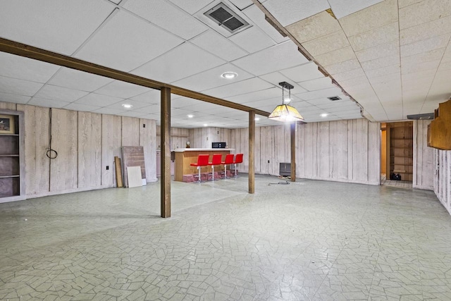
[{"label": "pale wood wall panel between built-in shelves and hanging cable loop", "polygon": [[25,194],[33,197],[50,189],[50,159],[46,156],[50,109],[23,104],[17,109],[25,112]]}]

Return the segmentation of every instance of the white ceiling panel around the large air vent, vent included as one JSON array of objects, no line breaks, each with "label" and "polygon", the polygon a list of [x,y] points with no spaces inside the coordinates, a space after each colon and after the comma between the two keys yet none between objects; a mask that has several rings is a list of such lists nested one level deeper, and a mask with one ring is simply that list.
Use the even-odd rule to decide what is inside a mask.
[{"label": "white ceiling panel around the large air vent, vent included", "polygon": [[198,13],[197,18],[204,20],[204,23],[226,37],[251,27],[245,18],[239,16],[230,6],[224,2],[215,3],[216,5],[209,6],[208,11]]}]

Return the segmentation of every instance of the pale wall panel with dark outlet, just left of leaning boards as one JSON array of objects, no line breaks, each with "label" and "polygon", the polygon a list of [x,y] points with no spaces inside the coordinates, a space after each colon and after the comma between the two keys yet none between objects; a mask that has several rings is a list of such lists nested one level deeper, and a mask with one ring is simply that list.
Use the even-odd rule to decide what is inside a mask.
[{"label": "pale wall panel with dark outlet, just left of leaning boards", "polygon": [[[101,185],[106,188],[116,187],[114,157],[118,156],[122,159],[121,116],[102,115],[101,133]],[[106,166],[109,166],[108,170]]]}]

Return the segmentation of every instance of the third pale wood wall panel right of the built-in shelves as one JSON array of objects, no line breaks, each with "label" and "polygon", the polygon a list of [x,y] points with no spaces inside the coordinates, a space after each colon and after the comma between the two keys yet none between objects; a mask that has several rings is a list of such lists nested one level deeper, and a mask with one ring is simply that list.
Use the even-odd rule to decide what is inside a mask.
[{"label": "third pale wood wall panel right of the built-in shelves", "polygon": [[101,115],[78,112],[78,188],[101,185]]}]

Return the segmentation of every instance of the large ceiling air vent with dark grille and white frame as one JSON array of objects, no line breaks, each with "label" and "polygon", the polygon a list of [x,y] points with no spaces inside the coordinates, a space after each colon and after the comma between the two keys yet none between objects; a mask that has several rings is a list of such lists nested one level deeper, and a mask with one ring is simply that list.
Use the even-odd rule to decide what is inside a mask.
[{"label": "large ceiling air vent with dark grille and white frame", "polygon": [[222,2],[206,11],[204,15],[213,20],[214,23],[228,30],[230,33],[235,33],[249,26],[249,23]]}]

